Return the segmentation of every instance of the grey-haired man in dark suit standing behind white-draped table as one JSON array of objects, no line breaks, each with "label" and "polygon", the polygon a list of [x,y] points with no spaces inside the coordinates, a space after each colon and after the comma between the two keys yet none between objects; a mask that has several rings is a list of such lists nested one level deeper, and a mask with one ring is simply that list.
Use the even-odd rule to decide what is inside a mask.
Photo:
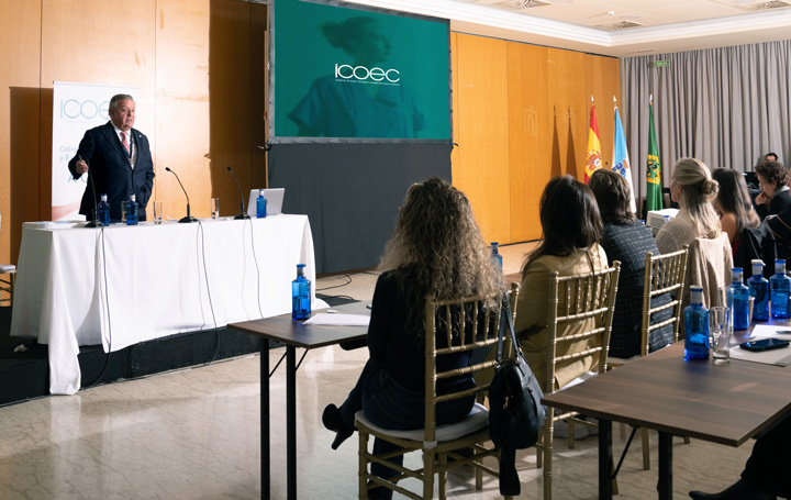
[{"label": "grey-haired man in dark suit standing behind white-draped table", "polygon": [[[132,96],[113,96],[109,113],[108,123],[86,132],[77,154],[68,164],[69,170],[75,179],[88,173],[88,184],[94,184],[96,196],[108,196],[110,219],[121,220],[121,202],[129,201],[134,195],[138,204],[137,216],[145,221],[145,208],[154,186],[154,162],[148,138],[132,129],[135,121]],[[92,221],[93,207],[93,189],[87,186],[79,213]]]}]

